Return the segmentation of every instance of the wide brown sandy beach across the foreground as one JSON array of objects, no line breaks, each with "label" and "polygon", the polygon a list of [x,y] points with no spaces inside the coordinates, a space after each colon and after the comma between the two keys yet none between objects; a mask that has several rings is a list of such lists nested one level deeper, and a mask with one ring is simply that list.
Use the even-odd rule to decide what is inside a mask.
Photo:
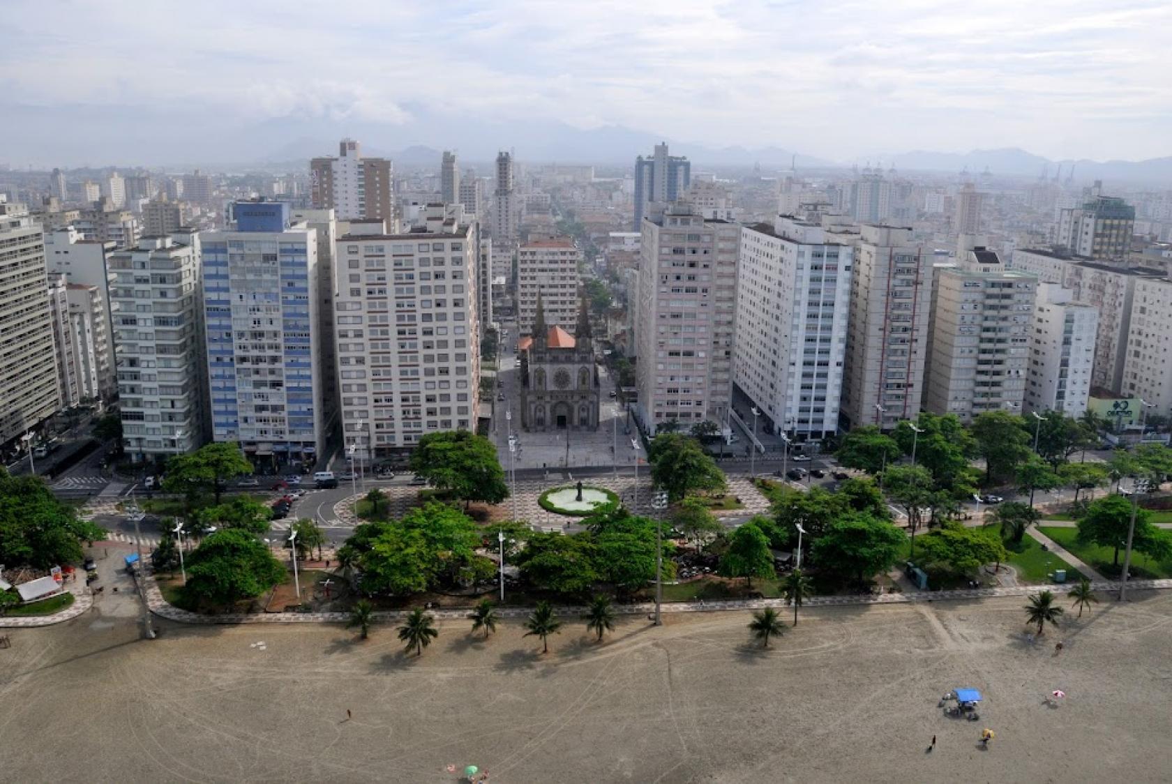
[{"label": "wide brown sandy beach across the foreground", "polygon": [[[673,614],[662,628],[622,616],[602,645],[567,618],[545,656],[516,621],[483,641],[442,620],[421,659],[381,625],[359,642],[331,625],[157,620],[158,639],[139,641],[132,607],[111,599],[9,632],[7,780],[455,782],[448,766],[466,764],[540,783],[1172,772],[1167,592],[1105,600],[1034,643],[1023,600],[1007,598],[811,608],[768,652],[745,612]],[[955,687],[982,691],[980,722],[941,714]],[[1052,689],[1068,696],[1044,702]]]}]

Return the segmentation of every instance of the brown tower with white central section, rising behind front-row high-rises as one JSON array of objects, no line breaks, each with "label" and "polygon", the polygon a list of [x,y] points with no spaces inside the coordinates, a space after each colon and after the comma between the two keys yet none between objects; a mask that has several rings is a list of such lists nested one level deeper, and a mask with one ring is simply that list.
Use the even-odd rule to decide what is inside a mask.
[{"label": "brown tower with white central section, rising behind front-row high-rises", "polygon": [[388,158],[362,156],[359,143],[343,138],[338,157],[309,162],[313,206],[333,210],[338,220],[386,220],[394,224],[395,211],[393,166]]}]

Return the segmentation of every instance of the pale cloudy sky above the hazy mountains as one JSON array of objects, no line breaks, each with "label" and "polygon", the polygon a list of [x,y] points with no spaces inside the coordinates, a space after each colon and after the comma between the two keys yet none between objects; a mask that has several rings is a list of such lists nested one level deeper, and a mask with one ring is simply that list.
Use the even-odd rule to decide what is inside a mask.
[{"label": "pale cloudy sky above the hazy mountains", "polygon": [[11,164],[250,159],[353,129],[507,146],[546,124],[840,162],[1172,155],[1167,0],[4,0],[0,18]]}]

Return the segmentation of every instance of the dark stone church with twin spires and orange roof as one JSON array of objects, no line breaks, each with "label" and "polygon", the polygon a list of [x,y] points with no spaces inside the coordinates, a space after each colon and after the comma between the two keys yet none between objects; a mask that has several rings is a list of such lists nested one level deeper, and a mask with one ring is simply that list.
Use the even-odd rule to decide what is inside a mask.
[{"label": "dark stone church with twin spires and orange roof", "polygon": [[577,335],[557,325],[547,327],[538,294],[533,334],[518,345],[520,422],[525,430],[598,430],[599,379],[585,299],[574,330]]}]

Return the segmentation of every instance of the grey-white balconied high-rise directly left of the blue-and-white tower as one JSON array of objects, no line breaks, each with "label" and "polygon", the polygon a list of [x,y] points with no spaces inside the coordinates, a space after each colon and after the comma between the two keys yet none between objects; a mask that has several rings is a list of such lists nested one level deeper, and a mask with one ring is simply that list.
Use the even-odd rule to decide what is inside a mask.
[{"label": "grey-white balconied high-rise directly left of the blue-and-white tower", "polygon": [[197,233],[141,238],[107,258],[122,439],[135,462],[206,441],[199,259]]}]

